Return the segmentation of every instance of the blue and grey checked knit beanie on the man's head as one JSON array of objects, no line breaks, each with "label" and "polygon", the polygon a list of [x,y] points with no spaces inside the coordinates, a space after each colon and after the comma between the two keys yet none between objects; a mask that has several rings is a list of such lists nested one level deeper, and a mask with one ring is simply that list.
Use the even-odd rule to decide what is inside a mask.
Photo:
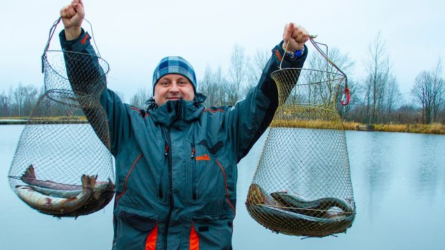
[{"label": "blue and grey checked knit beanie on the man's head", "polygon": [[153,95],[154,95],[154,85],[162,76],[166,74],[180,74],[186,76],[188,81],[190,81],[193,85],[193,90],[196,93],[196,76],[195,70],[192,65],[187,62],[186,59],[181,58],[180,56],[168,56],[163,58],[161,62],[159,62],[156,69],[153,72]]}]

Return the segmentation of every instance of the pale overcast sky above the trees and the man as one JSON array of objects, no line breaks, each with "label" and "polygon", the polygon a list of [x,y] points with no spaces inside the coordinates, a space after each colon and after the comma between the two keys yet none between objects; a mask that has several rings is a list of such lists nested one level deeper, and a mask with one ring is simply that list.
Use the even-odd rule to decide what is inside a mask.
[{"label": "pale overcast sky above the trees and the man", "polygon": [[[110,65],[108,88],[125,99],[145,85],[165,56],[186,58],[198,84],[209,63],[227,72],[235,43],[248,54],[272,49],[287,22],[317,34],[355,60],[352,78],[363,74],[369,44],[380,31],[401,92],[422,70],[445,56],[445,3],[424,1],[101,1],[85,0],[97,47]],[[49,28],[70,1],[2,1],[0,93],[10,85],[43,85],[40,56]],[[59,24],[57,33],[63,24]],[[83,26],[90,30],[88,23]],[[309,49],[312,45],[308,44]],[[60,49],[58,37],[51,49]]]}]

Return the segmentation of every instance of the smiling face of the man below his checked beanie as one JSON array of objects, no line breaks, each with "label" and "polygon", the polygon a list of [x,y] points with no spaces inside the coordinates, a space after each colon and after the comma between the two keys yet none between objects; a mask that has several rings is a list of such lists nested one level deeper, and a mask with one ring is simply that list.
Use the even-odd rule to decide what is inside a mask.
[{"label": "smiling face of the man below his checked beanie", "polygon": [[184,99],[193,101],[195,91],[186,76],[180,74],[167,74],[159,78],[154,85],[154,101],[161,106],[165,101]]}]

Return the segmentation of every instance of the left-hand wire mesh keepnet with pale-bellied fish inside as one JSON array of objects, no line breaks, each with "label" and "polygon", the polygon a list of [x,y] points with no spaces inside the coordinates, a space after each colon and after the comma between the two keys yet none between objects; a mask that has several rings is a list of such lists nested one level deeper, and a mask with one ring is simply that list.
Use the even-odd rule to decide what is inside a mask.
[{"label": "left-hand wire mesh keepnet with pale-bellied fish inside", "polygon": [[49,41],[42,56],[45,92],[20,135],[8,178],[31,208],[78,217],[104,208],[115,193],[108,122],[99,103],[108,64],[95,55],[48,50]]}]

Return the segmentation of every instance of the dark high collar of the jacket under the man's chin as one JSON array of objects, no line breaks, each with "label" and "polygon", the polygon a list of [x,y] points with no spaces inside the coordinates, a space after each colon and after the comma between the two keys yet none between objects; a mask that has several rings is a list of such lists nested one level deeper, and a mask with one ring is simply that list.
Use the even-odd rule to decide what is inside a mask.
[{"label": "dark high collar of the jacket under the man's chin", "polygon": [[154,120],[154,123],[161,124],[162,126],[172,126],[175,122],[193,122],[198,119],[204,106],[202,103],[207,97],[203,94],[196,93],[193,101],[186,101],[179,99],[176,101],[166,101],[161,106],[157,106],[154,103],[154,99],[148,101],[148,112]]}]

